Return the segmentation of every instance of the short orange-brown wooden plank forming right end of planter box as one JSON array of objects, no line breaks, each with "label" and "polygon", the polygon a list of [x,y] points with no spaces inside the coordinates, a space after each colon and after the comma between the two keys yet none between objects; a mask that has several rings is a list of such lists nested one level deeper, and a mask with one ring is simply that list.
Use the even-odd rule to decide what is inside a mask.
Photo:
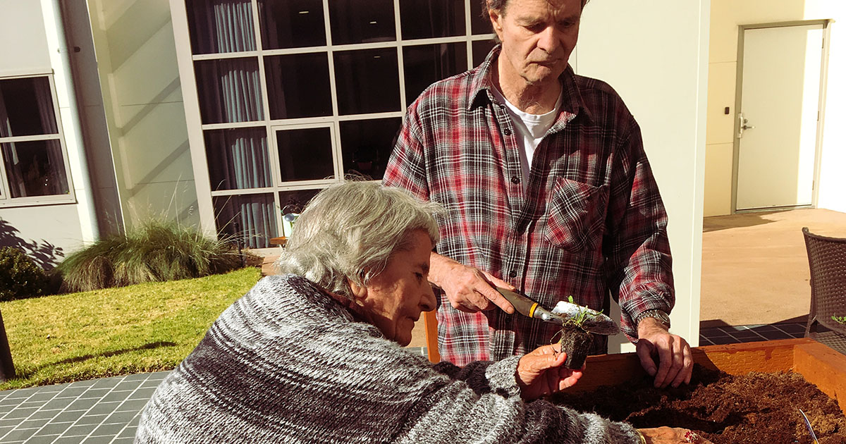
[{"label": "short orange-brown wooden plank forming right end of planter box", "polygon": [[794,348],[794,371],[837,401],[846,413],[846,355],[816,341],[800,344]]}]

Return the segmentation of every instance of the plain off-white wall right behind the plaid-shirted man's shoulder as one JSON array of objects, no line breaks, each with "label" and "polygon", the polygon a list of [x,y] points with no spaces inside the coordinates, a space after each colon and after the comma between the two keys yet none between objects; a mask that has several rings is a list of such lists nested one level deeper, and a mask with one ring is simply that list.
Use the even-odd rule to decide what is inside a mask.
[{"label": "plain off-white wall right behind the plaid-shirted man's shoulder", "polygon": [[[673,332],[699,343],[710,0],[602,0],[585,6],[578,72],[605,80],[640,123],[669,217]],[[633,347],[624,338],[622,351]],[[609,345],[615,351],[614,338]]]}]

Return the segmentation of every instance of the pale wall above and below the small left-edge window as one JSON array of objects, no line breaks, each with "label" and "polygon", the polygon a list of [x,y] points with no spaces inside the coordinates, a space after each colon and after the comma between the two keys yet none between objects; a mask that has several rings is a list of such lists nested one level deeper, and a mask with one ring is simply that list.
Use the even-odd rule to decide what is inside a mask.
[{"label": "pale wall above and below the small left-edge window", "polygon": [[[0,0],[0,11],[0,77],[51,73],[41,3]],[[41,266],[55,266],[82,236],[77,204],[0,207],[0,245],[24,249]]]}]

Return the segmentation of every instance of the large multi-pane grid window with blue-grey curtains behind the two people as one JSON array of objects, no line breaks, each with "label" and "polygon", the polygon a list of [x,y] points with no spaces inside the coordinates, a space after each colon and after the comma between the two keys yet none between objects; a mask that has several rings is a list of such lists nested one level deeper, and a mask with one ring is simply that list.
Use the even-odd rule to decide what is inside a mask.
[{"label": "large multi-pane grid window with blue-grey curtains behind the two people", "polygon": [[255,238],[343,175],[380,180],[406,107],[493,47],[480,2],[186,0],[220,233],[269,247]]}]

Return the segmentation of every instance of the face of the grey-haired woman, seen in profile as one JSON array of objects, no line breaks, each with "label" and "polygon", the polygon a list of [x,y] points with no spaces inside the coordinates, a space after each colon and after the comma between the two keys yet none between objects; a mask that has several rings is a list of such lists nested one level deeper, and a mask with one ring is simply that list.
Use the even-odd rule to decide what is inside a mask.
[{"label": "face of the grey-haired woman, seen in profile", "polygon": [[411,342],[411,330],[420,319],[420,312],[436,307],[427,279],[431,239],[422,230],[411,233],[411,238],[411,249],[395,252],[385,270],[361,289],[361,304],[373,324],[385,337],[402,346]]}]

